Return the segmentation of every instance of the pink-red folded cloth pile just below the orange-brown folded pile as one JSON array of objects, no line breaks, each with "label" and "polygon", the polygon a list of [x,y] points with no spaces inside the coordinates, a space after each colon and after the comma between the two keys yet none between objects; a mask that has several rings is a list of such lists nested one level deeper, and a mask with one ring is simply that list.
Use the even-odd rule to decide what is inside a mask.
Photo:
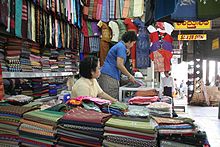
[{"label": "pink-red folded cloth pile just below the orange-brown folded pile", "polygon": [[151,97],[136,96],[129,99],[128,103],[132,105],[149,105],[157,101],[159,101],[158,96],[151,96]]}]

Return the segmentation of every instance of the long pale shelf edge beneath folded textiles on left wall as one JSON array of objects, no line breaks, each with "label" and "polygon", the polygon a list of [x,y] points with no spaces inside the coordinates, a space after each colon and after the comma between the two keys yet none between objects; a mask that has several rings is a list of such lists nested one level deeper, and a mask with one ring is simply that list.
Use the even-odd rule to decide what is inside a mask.
[{"label": "long pale shelf edge beneath folded textiles on left wall", "polygon": [[3,78],[39,78],[73,76],[74,72],[2,72]]}]

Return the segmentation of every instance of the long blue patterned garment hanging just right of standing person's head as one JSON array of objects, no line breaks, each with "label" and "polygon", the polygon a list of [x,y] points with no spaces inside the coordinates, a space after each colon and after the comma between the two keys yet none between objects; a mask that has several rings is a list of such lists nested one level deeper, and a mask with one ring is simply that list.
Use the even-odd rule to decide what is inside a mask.
[{"label": "long blue patterned garment hanging just right of standing person's head", "polygon": [[139,18],[136,18],[133,22],[138,27],[138,39],[136,42],[136,65],[137,68],[145,69],[150,67],[150,43],[149,43],[149,35],[146,27],[144,26],[144,22],[142,22]]}]

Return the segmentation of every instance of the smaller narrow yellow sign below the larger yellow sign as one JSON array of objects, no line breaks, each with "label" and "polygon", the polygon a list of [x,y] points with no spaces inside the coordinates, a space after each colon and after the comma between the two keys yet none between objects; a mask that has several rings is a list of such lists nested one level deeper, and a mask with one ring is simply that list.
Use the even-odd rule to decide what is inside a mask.
[{"label": "smaller narrow yellow sign below the larger yellow sign", "polygon": [[180,34],[178,40],[206,40],[206,34]]}]

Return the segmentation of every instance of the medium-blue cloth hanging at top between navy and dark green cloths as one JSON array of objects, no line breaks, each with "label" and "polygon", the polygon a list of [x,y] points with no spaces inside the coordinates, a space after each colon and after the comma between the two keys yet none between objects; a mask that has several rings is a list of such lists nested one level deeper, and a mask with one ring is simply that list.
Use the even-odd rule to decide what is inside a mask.
[{"label": "medium-blue cloth hanging at top between navy and dark green cloths", "polygon": [[175,20],[196,20],[196,1],[182,2],[182,0],[178,0],[171,18]]}]

